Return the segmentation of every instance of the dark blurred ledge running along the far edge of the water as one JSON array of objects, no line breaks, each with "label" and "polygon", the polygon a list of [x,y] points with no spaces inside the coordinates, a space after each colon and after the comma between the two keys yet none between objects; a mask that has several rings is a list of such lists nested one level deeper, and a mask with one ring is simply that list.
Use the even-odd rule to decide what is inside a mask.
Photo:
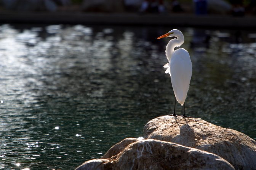
[{"label": "dark blurred ledge running along the far edge of the water", "polygon": [[100,24],[133,26],[181,26],[255,29],[256,17],[203,15],[187,13],[82,13],[82,12],[13,12],[0,11],[1,24]]}]

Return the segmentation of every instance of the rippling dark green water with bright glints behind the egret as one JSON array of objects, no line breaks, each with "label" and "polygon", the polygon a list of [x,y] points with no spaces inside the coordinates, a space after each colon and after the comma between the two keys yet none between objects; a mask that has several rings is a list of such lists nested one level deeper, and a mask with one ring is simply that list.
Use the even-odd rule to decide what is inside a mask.
[{"label": "rippling dark green water with bright glints behind the egret", "polygon": [[[0,25],[0,169],[74,169],[171,113],[168,39],[156,40],[171,29]],[[256,139],[256,32],[178,29],[187,115]]]}]

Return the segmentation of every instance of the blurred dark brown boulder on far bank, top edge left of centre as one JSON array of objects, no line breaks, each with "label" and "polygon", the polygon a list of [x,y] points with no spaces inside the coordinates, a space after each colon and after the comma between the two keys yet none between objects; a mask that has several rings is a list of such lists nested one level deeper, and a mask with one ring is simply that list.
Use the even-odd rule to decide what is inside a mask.
[{"label": "blurred dark brown boulder on far bank, top edge left of centre", "polygon": [[124,12],[123,0],[83,0],[83,11],[90,12]]}]

